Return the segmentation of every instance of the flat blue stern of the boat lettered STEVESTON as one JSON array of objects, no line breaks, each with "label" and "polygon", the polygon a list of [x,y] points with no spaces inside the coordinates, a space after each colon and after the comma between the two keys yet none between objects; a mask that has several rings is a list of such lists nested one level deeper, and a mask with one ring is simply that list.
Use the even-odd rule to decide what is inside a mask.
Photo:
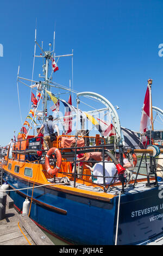
[{"label": "flat blue stern of the boat lettered STEVESTON", "polygon": [[161,186],[121,197],[118,245],[149,241],[163,231]]}]

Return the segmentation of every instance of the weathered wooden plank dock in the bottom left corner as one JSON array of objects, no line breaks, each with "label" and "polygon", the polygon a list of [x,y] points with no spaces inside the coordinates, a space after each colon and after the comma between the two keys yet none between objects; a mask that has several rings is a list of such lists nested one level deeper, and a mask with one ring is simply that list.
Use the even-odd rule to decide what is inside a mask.
[{"label": "weathered wooden plank dock in the bottom left corner", "polygon": [[0,220],[1,245],[54,245],[54,243],[27,215],[18,214],[14,202],[7,195],[5,218]]}]

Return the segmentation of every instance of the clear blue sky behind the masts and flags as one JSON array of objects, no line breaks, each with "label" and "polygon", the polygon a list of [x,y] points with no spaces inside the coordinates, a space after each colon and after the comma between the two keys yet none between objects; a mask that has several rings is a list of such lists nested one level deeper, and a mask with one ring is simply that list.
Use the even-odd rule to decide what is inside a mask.
[{"label": "clear blue sky behind the masts and flags", "polygon": [[[32,78],[36,20],[37,41],[43,41],[44,48],[53,42],[55,30],[56,54],[73,49],[74,89],[107,97],[120,107],[121,125],[139,131],[149,77],[153,79],[153,105],[163,108],[163,57],[158,55],[163,43],[162,10],[162,0],[1,1],[0,144],[8,144],[14,130],[17,134],[21,128],[17,69],[20,65],[20,75]],[[60,59],[58,64],[54,80],[69,86],[71,59]],[[40,59],[35,66],[40,66]],[[41,71],[35,69],[36,80]],[[30,90],[20,84],[19,88],[24,121]]]}]

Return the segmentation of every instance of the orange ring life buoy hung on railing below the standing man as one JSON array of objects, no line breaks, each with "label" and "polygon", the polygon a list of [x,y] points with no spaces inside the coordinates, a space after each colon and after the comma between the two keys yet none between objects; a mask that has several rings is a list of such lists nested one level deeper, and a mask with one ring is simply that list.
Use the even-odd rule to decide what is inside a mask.
[{"label": "orange ring life buoy hung on railing below the standing man", "polygon": [[[49,164],[49,157],[53,153],[57,156],[57,163],[56,163],[56,166],[55,166],[54,169],[52,169],[50,167],[50,164]],[[61,162],[62,162],[62,156],[61,156],[60,150],[58,148],[49,149],[47,154],[46,154],[46,157],[45,157],[45,167],[46,167],[47,173],[51,174],[51,175],[57,174],[59,172],[60,167],[61,167]]]}]

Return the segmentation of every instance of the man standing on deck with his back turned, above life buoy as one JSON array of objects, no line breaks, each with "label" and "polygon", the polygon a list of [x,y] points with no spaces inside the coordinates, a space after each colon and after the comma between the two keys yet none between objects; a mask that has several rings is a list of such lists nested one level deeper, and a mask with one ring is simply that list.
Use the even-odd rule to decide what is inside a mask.
[{"label": "man standing on deck with his back turned, above life buoy", "polygon": [[[38,134],[43,130],[44,128],[44,136],[43,136],[43,149],[48,150],[48,148],[53,148],[53,142],[51,141],[50,133],[54,133],[54,128],[57,130],[57,133],[59,135],[59,129],[57,125],[54,125],[53,128],[53,116],[49,115],[48,121],[46,121],[38,131]],[[35,136],[37,137],[37,136]],[[47,148],[48,146],[48,148]]]}]

